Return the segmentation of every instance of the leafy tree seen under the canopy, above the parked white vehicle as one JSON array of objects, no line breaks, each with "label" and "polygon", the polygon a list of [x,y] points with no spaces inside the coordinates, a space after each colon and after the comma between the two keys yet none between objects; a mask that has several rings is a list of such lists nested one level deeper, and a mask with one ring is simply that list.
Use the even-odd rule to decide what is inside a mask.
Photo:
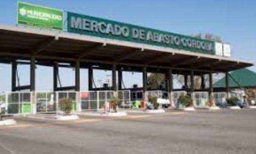
[{"label": "leafy tree seen under the canopy, above the parked white vehicle", "polygon": [[160,89],[165,87],[165,75],[160,73],[150,73],[148,76],[148,89]]}]

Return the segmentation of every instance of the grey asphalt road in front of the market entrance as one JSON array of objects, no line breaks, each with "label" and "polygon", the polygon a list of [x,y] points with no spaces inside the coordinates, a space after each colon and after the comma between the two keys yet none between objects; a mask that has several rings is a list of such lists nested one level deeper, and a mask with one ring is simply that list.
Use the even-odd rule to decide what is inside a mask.
[{"label": "grey asphalt road in front of the market entrance", "polygon": [[0,127],[0,154],[256,154],[256,110],[19,118]]}]

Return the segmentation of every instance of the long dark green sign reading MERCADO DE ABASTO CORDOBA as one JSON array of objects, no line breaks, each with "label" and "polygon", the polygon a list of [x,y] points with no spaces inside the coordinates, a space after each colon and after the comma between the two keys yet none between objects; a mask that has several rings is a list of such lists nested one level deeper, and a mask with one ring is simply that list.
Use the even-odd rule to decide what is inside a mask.
[{"label": "long dark green sign reading MERCADO DE ABASTO CORDOBA", "polygon": [[67,12],[67,31],[70,33],[215,54],[215,43],[209,40],[71,12]]}]

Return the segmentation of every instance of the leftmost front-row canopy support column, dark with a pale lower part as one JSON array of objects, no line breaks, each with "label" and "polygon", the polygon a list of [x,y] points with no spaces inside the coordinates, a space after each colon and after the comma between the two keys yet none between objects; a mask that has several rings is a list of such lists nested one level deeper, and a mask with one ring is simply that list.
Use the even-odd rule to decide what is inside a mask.
[{"label": "leftmost front-row canopy support column, dark with a pale lower part", "polygon": [[36,101],[35,101],[35,56],[30,59],[30,91],[31,91],[31,109],[32,114],[36,113]]}]

